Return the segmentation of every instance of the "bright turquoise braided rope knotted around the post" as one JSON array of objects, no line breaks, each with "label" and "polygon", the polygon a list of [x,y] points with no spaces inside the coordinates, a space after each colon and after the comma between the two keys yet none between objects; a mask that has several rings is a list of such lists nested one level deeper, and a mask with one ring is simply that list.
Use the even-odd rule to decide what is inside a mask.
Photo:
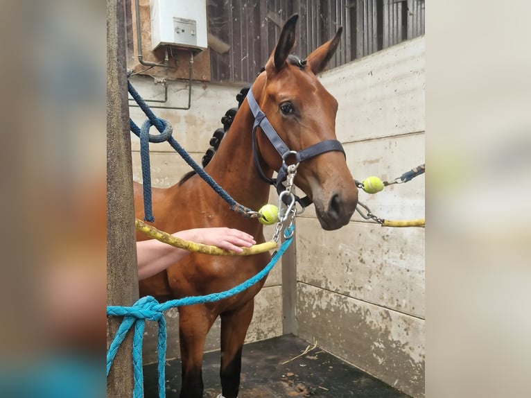
[{"label": "bright turquoise braided rope knotted around the post", "polygon": [[[158,373],[159,373],[159,398],[166,397],[166,374],[164,370],[164,365],[166,363],[166,320],[164,319],[164,311],[184,305],[193,305],[193,304],[204,304],[207,302],[216,302],[223,300],[228,297],[232,297],[245,291],[250,286],[256,284],[261,279],[268,275],[270,270],[275,266],[277,261],[288,246],[293,241],[293,225],[284,230],[284,236],[286,241],[281,244],[279,250],[275,252],[271,261],[268,263],[263,270],[258,272],[254,277],[247,279],[242,284],[235,286],[228,291],[220,293],[211,293],[209,295],[202,296],[191,296],[183,297],[177,300],[170,300],[159,304],[155,298],[151,296],[142,297],[132,306],[107,306],[107,316],[123,316],[123,321],[116,331],[116,336],[107,351],[107,376],[109,375],[112,362],[116,356],[116,352],[125,339],[125,336],[128,334],[128,331],[134,326],[134,335],[133,335],[133,347],[132,347],[132,358],[133,358],[133,371],[134,371],[134,390],[133,398],[142,398],[143,397],[143,371],[142,371],[142,341],[143,341],[143,330],[145,320],[157,321],[159,327],[158,333]],[[287,238],[290,236],[289,238]]]}]

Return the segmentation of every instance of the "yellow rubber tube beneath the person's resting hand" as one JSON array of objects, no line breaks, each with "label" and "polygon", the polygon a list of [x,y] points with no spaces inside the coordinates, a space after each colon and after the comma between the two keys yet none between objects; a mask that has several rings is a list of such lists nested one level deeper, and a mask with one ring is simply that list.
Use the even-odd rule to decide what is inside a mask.
[{"label": "yellow rubber tube beneath the person's resting hand", "polygon": [[260,243],[259,245],[253,245],[250,248],[242,248],[243,252],[236,253],[230,250],[220,249],[216,246],[203,245],[202,243],[194,243],[190,241],[185,241],[184,239],[176,238],[175,236],[168,234],[164,231],[157,230],[157,228],[144,223],[138,218],[134,220],[134,225],[135,227],[137,227],[137,231],[148,235],[150,238],[157,239],[157,241],[168,243],[168,245],[172,245],[175,248],[185,249],[189,252],[209,254],[211,256],[248,256],[250,254],[259,254],[263,252],[268,252],[270,250],[275,250],[279,247],[277,243],[269,241],[265,243]]}]

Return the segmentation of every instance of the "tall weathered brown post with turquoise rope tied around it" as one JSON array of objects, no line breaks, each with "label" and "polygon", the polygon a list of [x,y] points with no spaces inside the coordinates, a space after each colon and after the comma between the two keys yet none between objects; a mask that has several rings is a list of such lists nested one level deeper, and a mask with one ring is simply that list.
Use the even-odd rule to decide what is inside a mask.
[{"label": "tall weathered brown post with turquoise rope tied around it", "polygon": [[[124,0],[107,0],[107,305],[131,305],[139,295],[124,10]],[[107,348],[120,322],[107,319]],[[128,336],[107,377],[107,398],[132,397],[131,351]]]}]

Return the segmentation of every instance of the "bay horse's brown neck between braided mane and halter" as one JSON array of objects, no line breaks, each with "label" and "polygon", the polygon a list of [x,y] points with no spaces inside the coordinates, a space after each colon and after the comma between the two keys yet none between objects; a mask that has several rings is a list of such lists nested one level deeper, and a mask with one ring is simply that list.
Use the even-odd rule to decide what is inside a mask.
[{"label": "bay horse's brown neck between braided mane and halter", "polygon": [[[253,90],[259,98],[259,90],[263,83],[254,83]],[[268,201],[270,185],[263,181],[254,167],[252,155],[252,126],[254,116],[247,101],[244,101],[234,117],[232,125],[223,138],[216,155],[205,168],[205,171],[234,200],[252,208],[259,209]],[[264,165],[262,165],[264,166]],[[268,178],[272,177],[272,169],[264,167]]]}]

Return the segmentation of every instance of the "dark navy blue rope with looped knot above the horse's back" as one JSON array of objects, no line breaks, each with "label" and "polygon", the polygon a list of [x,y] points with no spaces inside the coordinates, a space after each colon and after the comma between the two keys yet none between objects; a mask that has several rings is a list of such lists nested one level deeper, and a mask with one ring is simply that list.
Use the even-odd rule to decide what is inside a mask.
[{"label": "dark navy blue rope with looped knot above the horse's back", "polygon": [[[204,172],[204,170],[199,166],[195,161],[191,158],[189,153],[180,146],[180,144],[171,136],[173,129],[171,127],[171,124],[164,120],[159,119],[153,111],[150,109],[146,101],[143,100],[143,98],[138,94],[137,90],[132,87],[131,82],[128,80],[128,91],[131,94],[134,101],[137,102],[140,109],[148,116],[148,120],[146,120],[142,128],[139,128],[134,121],[131,119],[130,122],[130,128],[131,131],[140,138],[140,157],[141,157],[141,163],[142,163],[142,180],[143,180],[143,203],[144,203],[144,220],[149,221],[153,223],[155,218],[153,218],[153,213],[151,209],[151,177],[150,177],[150,159],[149,159],[149,143],[150,142],[162,142],[162,141],[168,141],[168,144],[171,145],[179,155],[184,159],[184,161],[193,168],[193,171],[195,173],[198,173],[198,175],[205,181],[207,184],[218,193],[218,195],[225,200],[230,205],[230,209],[233,211],[237,211],[239,214],[242,214],[244,216],[250,216],[250,214],[253,213],[253,211],[245,207],[236,200],[234,200],[228,193],[225,191],[222,187],[219,186],[219,184],[214,181],[213,178],[210,177],[207,173]],[[151,135],[149,134],[149,129],[151,126],[155,126],[157,130],[161,133],[160,135]]]}]

